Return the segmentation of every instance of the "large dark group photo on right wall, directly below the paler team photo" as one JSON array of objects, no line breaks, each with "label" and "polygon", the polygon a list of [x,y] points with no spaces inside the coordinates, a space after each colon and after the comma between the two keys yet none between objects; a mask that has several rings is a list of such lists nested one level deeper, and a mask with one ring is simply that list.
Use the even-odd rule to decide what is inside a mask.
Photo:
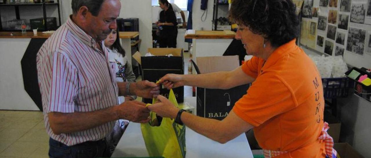
[{"label": "large dark group photo on right wall, directly below the paler team photo", "polygon": [[349,27],[347,51],[363,56],[365,47],[366,30]]}]

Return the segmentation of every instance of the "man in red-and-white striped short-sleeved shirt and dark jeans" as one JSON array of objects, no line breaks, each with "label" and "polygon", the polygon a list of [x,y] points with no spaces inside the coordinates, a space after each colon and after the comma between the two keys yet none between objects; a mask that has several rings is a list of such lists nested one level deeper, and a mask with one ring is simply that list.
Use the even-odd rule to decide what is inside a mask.
[{"label": "man in red-and-white striped short-sleeved shirt and dark jeans", "polygon": [[155,83],[116,83],[104,39],[116,29],[119,0],[72,0],[73,15],[40,48],[37,73],[50,157],[106,157],[105,137],[115,120],[148,122],[137,101],[118,104],[118,95],[152,98]]}]

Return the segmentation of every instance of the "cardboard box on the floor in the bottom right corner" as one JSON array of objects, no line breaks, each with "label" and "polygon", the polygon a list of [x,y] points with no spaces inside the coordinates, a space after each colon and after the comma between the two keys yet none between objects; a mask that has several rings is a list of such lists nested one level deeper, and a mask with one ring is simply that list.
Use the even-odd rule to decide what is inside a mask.
[{"label": "cardboard box on the floor in the bottom right corner", "polygon": [[361,154],[359,154],[358,151],[356,151],[346,142],[335,143],[334,149],[338,152],[340,158],[364,158]]}]

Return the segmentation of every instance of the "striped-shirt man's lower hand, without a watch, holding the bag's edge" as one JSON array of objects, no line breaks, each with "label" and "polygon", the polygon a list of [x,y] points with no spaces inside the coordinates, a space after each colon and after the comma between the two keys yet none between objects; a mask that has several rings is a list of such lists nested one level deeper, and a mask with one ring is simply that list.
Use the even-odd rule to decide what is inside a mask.
[{"label": "striped-shirt man's lower hand, without a watch, holding the bag's edge", "polygon": [[147,123],[150,121],[150,110],[145,107],[145,103],[138,101],[128,101],[116,106],[116,114],[119,119],[125,119],[137,123]]}]

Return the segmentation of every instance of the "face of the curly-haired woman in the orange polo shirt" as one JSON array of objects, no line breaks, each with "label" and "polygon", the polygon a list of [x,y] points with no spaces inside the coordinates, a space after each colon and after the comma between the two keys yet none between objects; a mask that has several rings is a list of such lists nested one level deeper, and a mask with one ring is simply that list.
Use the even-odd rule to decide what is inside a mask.
[{"label": "face of the curly-haired woman in the orange polo shirt", "polygon": [[235,37],[241,40],[243,47],[246,49],[247,55],[260,56],[263,52],[264,37],[262,35],[254,34],[249,27],[239,25]]}]

